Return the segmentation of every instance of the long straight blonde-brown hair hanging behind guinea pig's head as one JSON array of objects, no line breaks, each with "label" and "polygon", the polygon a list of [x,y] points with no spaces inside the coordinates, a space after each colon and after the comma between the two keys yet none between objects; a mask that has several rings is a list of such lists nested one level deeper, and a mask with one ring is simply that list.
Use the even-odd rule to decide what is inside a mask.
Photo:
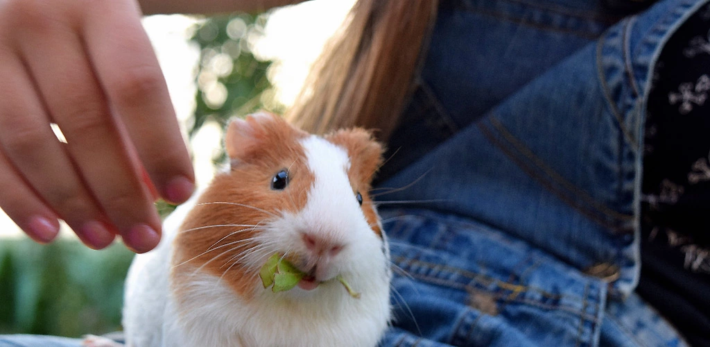
[{"label": "long straight blonde-brown hair hanging behind guinea pig's head", "polygon": [[359,0],[285,114],[307,132],[373,129],[385,141],[412,91],[438,0]]}]

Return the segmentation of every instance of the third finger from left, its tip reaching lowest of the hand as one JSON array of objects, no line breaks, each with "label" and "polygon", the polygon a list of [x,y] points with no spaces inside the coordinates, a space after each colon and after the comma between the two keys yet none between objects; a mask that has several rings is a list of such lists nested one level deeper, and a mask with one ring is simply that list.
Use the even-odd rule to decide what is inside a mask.
[{"label": "third finger from left, its tip reaching lowest of the hand", "polygon": [[58,30],[32,42],[22,47],[23,53],[50,117],[67,139],[67,151],[80,176],[126,245],[136,252],[153,249],[160,240],[160,217],[141,181],[140,164],[131,161],[130,144],[114,123],[80,38]]}]

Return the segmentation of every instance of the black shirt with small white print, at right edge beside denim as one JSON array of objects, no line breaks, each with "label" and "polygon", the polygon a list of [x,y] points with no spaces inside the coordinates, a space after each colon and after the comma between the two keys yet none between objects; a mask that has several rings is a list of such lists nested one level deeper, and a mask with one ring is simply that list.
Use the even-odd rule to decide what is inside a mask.
[{"label": "black shirt with small white print, at right edge beside denim", "polygon": [[660,55],[646,122],[639,294],[710,346],[710,6]]}]

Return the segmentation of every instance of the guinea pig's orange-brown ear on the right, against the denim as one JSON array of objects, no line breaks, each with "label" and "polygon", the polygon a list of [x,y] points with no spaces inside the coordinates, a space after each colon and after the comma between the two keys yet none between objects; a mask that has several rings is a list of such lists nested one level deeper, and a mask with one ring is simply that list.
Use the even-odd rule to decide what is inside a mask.
[{"label": "guinea pig's orange-brown ear on the right, against the denim", "polygon": [[383,147],[365,129],[339,130],[325,137],[329,142],[347,149],[351,171],[366,183],[372,181],[382,164]]}]

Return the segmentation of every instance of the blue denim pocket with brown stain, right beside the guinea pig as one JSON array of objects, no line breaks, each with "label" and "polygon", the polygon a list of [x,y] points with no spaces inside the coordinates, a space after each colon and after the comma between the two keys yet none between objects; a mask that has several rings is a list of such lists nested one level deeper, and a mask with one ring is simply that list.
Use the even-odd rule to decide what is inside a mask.
[{"label": "blue denim pocket with brown stain, right beside the guinea pig", "polygon": [[601,280],[471,220],[423,210],[383,217],[395,267],[385,346],[596,345]]}]

